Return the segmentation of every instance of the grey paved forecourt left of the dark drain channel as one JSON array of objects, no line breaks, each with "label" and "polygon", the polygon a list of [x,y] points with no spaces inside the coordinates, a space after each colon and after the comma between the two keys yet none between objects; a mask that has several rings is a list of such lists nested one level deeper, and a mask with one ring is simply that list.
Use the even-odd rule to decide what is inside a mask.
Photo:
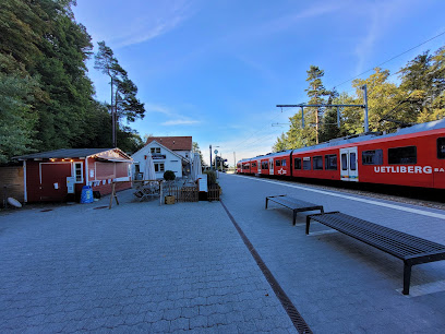
[{"label": "grey paved forecourt left of the dark drain channel", "polygon": [[296,333],[220,203],[0,213],[0,333]]}]

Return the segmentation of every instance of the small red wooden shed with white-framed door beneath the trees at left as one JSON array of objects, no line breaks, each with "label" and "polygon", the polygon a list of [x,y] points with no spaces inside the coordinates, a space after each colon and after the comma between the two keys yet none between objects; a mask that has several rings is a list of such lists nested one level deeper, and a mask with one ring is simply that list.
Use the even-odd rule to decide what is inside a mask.
[{"label": "small red wooden shed with white-framed door beneath the trees at left", "polygon": [[[130,181],[133,159],[119,148],[63,148],[15,157],[23,162],[25,202],[80,198],[83,186],[111,193],[111,181]],[[131,188],[118,183],[117,190]]]}]

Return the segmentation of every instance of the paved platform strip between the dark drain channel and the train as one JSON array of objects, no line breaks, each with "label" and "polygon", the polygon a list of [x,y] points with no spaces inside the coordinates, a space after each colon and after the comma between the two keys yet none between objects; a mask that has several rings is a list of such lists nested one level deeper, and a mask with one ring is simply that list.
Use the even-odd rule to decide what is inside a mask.
[{"label": "paved platform strip between the dark drain channel and the train", "polygon": [[412,267],[401,295],[402,261],[311,224],[265,198],[288,194],[325,211],[378,223],[445,244],[445,212],[273,179],[221,175],[222,201],[314,333],[443,333],[445,261]]}]

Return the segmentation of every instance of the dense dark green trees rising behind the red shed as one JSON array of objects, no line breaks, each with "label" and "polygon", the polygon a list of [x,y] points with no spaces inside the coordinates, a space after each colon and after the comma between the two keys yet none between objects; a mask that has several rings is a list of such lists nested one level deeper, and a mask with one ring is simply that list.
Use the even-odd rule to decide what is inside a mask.
[{"label": "dense dark green trees rising behind the red shed", "polygon": [[[73,3],[1,1],[1,162],[32,151],[112,146],[110,116],[94,99],[86,75],[91,36],[74,21]],[[124,79],[117,92],[119,110],[134,120],[143,105],[135,98],[135,85]],[[139,134],[129,127],[119,127],[118,138],[127,152],[141,146]]]}]

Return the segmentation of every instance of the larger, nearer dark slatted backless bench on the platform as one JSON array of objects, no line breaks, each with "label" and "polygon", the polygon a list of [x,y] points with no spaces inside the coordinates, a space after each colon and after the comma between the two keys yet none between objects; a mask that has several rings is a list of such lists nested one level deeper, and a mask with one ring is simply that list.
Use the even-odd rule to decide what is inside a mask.
[{"label": "larger, nearer dark slatted backless bench on the platform", "polygon": [[306,235],[311,219],[373,246],[404,261],[404,295],[409,295],[411,266],[445,260],[445,246],[370,223],[340,212],[306,216]]}]

